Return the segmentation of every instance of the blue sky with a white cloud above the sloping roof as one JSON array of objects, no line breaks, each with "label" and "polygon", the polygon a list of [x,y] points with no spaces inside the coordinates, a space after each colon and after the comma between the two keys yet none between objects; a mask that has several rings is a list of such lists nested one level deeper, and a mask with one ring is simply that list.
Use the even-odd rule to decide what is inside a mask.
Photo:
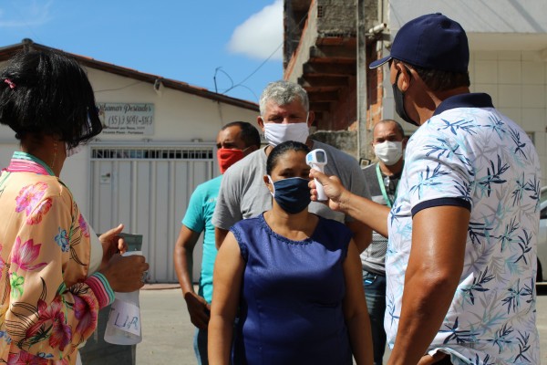
[{"label": "blue sky with a white cloud above the sloping roof", "polygon": [[254,102],[283,78],[282,0],[4,0],[0,32],[212,91],[216,70],[218,92]]}]

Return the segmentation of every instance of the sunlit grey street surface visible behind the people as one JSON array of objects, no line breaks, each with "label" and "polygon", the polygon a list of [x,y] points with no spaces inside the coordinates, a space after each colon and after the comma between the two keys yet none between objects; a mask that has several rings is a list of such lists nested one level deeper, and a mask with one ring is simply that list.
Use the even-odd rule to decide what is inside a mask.
[{"label": "sunlit grey street surface visible behind the people", "polygon": [[[146,286],[140,291],[140,311],[143,339],[137,345],[137,365],[196,364],[192,349],[194,327],[179,287]],[[542,362],[547,364],[547,284],[538,287],[537,312]]]}]

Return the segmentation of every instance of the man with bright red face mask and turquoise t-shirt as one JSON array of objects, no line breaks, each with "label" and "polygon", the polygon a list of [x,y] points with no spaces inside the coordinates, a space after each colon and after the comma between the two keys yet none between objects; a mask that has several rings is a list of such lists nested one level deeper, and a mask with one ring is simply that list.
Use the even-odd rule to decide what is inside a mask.
[{"label": "man with bright red face mask and turquoise t-shirt", "polygon": [[[219,168],[221,173],[224,173],[233,163],[260,148],[260,135],[252,124],[245,121],[233,121],[219,131],[217,148]],[[181,283],[182,294],[190,313],[191,323],[196,327],[194,351],[198,364],[209,363],[207,326],[212,299],[212,267],[217,254],[211,218],[221,182],[222,175],[201,183],[191,194],[174,250],[174,264]],[[203,231],[205,233],[203,235],[200,286],[199,292],[196,294],[191,279],[192,254]]]}]

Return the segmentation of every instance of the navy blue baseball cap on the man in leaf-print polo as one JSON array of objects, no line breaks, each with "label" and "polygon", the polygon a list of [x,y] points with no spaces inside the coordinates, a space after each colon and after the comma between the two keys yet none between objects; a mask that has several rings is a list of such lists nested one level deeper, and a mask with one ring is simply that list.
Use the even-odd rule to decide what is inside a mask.
[{"label": "navy blue baseball cap on the man in leaf-print polo", "polygon": [[393,58],[419,68],[467,72],[470,47],[458,22],[440,13],[428,14],[401,26],[391,54],[371,62],[369,68],[380,67]]}]

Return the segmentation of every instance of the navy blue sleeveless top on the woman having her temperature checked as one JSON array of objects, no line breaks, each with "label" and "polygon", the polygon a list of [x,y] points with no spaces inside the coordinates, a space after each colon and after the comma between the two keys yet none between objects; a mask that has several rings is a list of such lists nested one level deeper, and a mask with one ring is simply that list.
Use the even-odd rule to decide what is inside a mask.
[{"label": "navy blue sleeveless top on the woman having her temperature checked", "polygon": [[261,214],[231,231],[246,263],[233,363],[351,364],[342,306],[346,225],[319,217],[310,238],[292,241]]}]

